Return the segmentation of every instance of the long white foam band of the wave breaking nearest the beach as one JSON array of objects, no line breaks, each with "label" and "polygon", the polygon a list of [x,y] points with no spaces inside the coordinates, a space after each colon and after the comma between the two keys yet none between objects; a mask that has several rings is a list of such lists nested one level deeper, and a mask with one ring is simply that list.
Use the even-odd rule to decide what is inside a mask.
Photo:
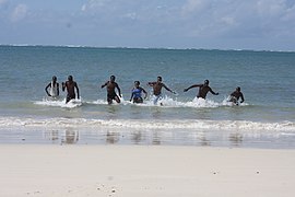
[{"label": "long white foam band of the wave breaking nearest the beach", "polygon": [[132,129],[210,129],[210,130],[266,130],[294,131],[295,123],[256,123],[246,120],[203,120],[203,119],[85,119],[85,118],[21,118],[0,117],[1,127],[81,127],[81,128],[132,128]]}]

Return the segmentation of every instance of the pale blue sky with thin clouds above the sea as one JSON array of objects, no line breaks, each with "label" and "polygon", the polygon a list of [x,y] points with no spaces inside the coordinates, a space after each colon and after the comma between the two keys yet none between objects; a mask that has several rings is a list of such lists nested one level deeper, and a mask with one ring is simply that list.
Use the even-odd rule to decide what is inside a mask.
[{"label": "pale blue sky with thin clouds above the sea", "polygon": [[295,0],[0,0],[0,45],[295,51]]}]

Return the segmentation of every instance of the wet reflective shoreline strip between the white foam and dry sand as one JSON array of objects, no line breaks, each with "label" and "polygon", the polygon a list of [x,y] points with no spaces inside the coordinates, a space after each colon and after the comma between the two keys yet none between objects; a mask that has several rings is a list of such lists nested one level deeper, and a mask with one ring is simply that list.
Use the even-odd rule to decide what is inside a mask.
[{"label": "wet reflective shoreline strip between the white foam and dry sand", "polygon": [[176,146],[253,149],[295,149],[293,131],[137,129],[137,128],[44,128],[0,129],[0,144]]}]

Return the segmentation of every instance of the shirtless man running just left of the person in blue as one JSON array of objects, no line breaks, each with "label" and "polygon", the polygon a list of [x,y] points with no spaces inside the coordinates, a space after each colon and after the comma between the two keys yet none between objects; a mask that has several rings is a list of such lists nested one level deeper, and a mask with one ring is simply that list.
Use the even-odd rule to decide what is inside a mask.
[{"label": "shirtless man running just left of the person in blue", "polygon": [[[120,103],[119,96],[121,96],[121,90],[118,85],[118,83],[115,82],[116,77],[110,76],[109,81],[107,81],[105,84],[102,85],[102,89],[107,86],[107,103],[110,105],[113,103],[113,100],[115,100],[117,103]],[[119,96],[116,94],[115,89],[118,90]]]}]

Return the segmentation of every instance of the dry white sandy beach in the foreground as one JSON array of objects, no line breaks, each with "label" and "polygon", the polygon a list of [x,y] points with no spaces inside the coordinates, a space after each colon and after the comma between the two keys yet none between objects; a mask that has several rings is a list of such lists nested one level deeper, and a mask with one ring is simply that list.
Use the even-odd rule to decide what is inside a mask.
[{"label": "dry white sandy beach in the foreground", "polygon": [[0,196],[295,196],[295,150],[1,144],[0,155]]}]

